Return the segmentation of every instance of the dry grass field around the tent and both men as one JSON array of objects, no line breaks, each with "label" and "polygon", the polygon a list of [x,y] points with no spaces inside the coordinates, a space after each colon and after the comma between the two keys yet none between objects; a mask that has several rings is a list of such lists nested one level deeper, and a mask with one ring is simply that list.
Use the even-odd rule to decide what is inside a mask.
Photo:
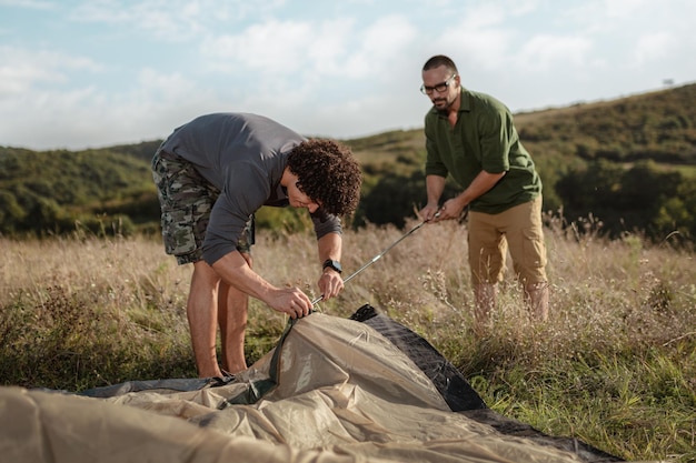
[{"label": "dry grass field around the tent and both men", "polygon": [[[607,241],[548,218],[550,320],[529,321],[510,279],[491,330],[470,330],[466,227],[426,225],[351,280],[326,313],[370,303],[434,344],[499,413],[626,460],[696,461],[696,264],[693,251],[639,235]],[[410,222],[408,227],[416,223]],[[347,231],[352,273],[405,230]],[[191,269],[156,240],[0,239],[0,384],[79,391],[196,375],[186,322]],[[314,236],[260,230],[256,269],[317,296]],[[286,319],[252,301],[248,362]]]}]

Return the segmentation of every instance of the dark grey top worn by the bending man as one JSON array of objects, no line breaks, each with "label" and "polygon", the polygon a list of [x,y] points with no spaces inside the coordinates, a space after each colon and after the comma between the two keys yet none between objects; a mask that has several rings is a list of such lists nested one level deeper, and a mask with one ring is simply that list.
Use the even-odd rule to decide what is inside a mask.
[{"label": "dark grey top worn by the bending man", "polygon": [[[280,179],[292,148],[306,140],[262,115],[213,113],[179,127],[162,143],[168,153],[190,161],[220,195],[206,229],[203,259],[215,263],[237,248],[249,217],[262,205],[288,205]],[[311,214],[317,239],[341,232],[331,214]]]}]

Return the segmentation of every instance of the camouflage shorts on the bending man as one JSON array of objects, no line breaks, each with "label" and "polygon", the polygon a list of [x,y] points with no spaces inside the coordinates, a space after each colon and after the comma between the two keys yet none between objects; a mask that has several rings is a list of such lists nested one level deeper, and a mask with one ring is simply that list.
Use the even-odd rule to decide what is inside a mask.
[{"label": "camouflage shorts on the bending man", "polygon": [[[165,251],[175,255],[179,264],[201,260],[210,211],[220,190],[200,175],[193,164],[161,150],[152,158],[152,179],[162,211]],[[237,250],[250,253],[252,244],[253,215],[250,215]]]}]

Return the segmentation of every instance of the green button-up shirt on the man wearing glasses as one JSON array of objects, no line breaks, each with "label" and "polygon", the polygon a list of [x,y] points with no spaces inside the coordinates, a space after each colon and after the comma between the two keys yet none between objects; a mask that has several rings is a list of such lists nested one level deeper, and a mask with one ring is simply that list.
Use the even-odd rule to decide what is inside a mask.
[{"label": "green button-up shirt on the man wearing glasses", "polygon": [[455,127],[432,108],[425,118],[425,134],[426,175],[450,174],[466,189],[481,170],[507,172],[471,202],[473,211],[496,214],[541,193],[541,180],[519,141],[513,113],[495,98],[463,88]]}]

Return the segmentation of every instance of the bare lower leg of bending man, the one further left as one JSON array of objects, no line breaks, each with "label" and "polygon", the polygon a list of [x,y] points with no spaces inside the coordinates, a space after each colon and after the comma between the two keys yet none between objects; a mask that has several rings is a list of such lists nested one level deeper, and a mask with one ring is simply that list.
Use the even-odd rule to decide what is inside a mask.
[{"label": "bare lower leg of bending man, the one further left", "polygon": [[193,263],[186,313],[199,378],[222,376],[216,353],[219,281],[206,261]]}]

